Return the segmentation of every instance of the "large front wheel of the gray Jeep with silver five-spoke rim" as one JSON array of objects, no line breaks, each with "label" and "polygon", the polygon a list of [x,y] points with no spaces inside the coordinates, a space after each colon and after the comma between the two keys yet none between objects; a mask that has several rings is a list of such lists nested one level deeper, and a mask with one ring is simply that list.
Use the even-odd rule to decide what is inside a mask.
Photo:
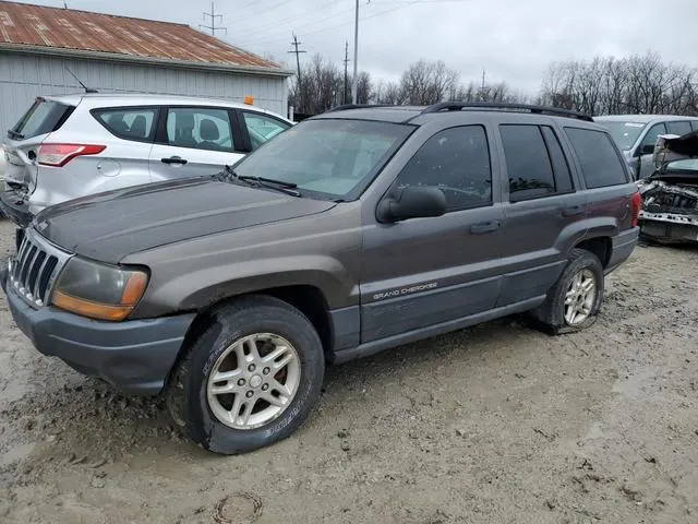
[{"label": "large front wheel of the gray Jeep with silver five-spoke rim", "polygon": [[214,312],[178,362],[167,400],[176,422],[206,450],[239,454],[293,433],[320,397],[325,360],[313,324],[272,297]]}]

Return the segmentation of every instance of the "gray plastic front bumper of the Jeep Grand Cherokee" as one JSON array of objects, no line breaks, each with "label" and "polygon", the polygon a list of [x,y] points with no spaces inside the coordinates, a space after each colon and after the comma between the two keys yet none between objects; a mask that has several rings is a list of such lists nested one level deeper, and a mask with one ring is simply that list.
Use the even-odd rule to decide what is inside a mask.
[{"label": "gray plastic front bumper of the Jeep Grand Cherokee", "polygon": [[15,323],[40,353],[127,393],[154,395],[163,390],[195,317],[100,322],[51,307],[33,309],[7,286],[5,269],[0,284]]}]

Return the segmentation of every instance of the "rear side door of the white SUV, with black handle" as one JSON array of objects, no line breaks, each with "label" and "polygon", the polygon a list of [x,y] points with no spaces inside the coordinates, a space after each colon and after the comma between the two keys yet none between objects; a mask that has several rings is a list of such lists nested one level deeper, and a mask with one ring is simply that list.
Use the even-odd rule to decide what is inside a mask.
[{"label": "rear side door of the white SUV, with black handle", "polygon": [[151,151],[153,180],[214,175],[243,155],[234,111],[226,107],[164,109]]}]

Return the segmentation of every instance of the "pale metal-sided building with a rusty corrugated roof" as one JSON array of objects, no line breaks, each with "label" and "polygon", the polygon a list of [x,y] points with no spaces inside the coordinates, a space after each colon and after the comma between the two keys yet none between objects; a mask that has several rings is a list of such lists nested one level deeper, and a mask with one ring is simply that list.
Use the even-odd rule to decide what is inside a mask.
[{"label": "pale metal-sided building with a rusty corrugated roof", "polygon": [[292,73],[181,24],[0,1],[0,133],[36,96],[194,95],[286,115]]}]

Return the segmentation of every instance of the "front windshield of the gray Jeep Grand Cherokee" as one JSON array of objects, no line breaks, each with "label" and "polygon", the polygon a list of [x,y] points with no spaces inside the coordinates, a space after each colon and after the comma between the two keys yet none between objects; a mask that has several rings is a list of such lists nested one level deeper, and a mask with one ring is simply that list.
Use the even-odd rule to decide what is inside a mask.
[{"label": "front windshield of the gray Jeep Grand Cherokee", "polygon": [[296,184],[301,192],[353,200],[414,128],[361,120],[306,120],[234,166],[239,177]]}]

